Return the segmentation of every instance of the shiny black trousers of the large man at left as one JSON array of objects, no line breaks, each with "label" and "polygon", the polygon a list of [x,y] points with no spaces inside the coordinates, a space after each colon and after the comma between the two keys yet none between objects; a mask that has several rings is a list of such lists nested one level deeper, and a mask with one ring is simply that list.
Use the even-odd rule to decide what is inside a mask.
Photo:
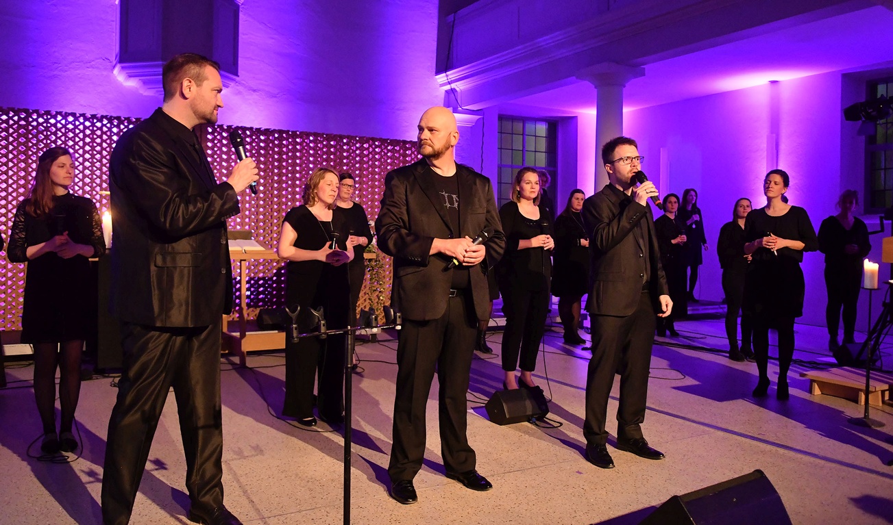
[{"label": "shiny black trousers of the large man at left", "polygon": [[223,504],[221,322],[196,328],[121,324],[123,372],[109,421],[102,508],[106,525],[130,519],[168,391],[177,399],[194,507]]}]

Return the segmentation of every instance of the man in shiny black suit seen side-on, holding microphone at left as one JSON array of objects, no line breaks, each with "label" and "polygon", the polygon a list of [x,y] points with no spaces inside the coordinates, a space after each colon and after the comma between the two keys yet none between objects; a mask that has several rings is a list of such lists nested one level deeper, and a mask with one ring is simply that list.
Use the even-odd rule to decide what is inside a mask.
[{"label": "man in shiny black suit seen side-on, holding microphone at left", "polygon": [[240,523],[223,506],[221,318],[232,308],[226,219],[257,180],[242,160],[214,179],[193,128],[217,122],[220,66],[180,54],[163,68],[164,103],[112,152],[114,250],[110,309],[121,320],[124,367],[105,450],[103,521],[130,519],[171,386],[197,523]]}]

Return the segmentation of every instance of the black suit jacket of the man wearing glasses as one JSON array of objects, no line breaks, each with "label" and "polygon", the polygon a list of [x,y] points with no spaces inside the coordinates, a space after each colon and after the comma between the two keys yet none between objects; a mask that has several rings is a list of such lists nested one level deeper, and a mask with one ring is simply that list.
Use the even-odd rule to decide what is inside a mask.
[{"label": "black suit jacket of the man wearing glasses", "polygon": [[[583,224],[589,235],[589,312],[596,316],[630,316],[638,307],[646,271],[644,248],[651,268],[648,281],[652,299],[669,295],[661,266],[651,208],[624,199],[620,191],[605,185],[583,202]],[[645,221],[647,235],[639,234]],[[655,304],[656,306],[656,304]]]}]

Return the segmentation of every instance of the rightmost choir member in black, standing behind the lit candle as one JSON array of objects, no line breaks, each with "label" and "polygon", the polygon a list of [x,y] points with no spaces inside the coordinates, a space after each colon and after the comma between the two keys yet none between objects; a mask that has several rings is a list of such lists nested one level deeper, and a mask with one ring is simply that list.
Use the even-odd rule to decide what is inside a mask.
[{"label": "rightmost choir member in black, standing behind the lit candle", "polygon": [[843,342],[855,342],[855,305],[859,300],[862,280],[862,259],[872,250],[868,242],[868,227],[853,216],[859,205],[859,193],[846,190],[840,194],[837,206],[840,213],[822,221],[819,226],[819,250],[825,254],[825,287],[828,289],[828,345],[833,351],[839,346],[838,328],[840,308],[843,307]]}]

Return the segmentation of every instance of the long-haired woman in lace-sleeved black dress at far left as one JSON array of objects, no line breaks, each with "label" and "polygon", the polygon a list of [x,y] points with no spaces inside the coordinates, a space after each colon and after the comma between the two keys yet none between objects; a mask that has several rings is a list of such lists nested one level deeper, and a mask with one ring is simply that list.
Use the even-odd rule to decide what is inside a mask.
[{"label": "long-haired woman in lace-sleeved black dress at far left", "polygon": [[[90,298],[88,258],[105,253],[102,222],[96,204],[68,191],[74,161],[65,148],[40,155],[28,198],[13,219],[7,257],[27,262],[21,315],[21,342],[34,348],[34,398],[46,454],[72,452],[78,441],[71,433],[80,395],[80,357],[91,326],[96,326]],[[59,368],[62,422],[55,428],[55,370]]]}]

